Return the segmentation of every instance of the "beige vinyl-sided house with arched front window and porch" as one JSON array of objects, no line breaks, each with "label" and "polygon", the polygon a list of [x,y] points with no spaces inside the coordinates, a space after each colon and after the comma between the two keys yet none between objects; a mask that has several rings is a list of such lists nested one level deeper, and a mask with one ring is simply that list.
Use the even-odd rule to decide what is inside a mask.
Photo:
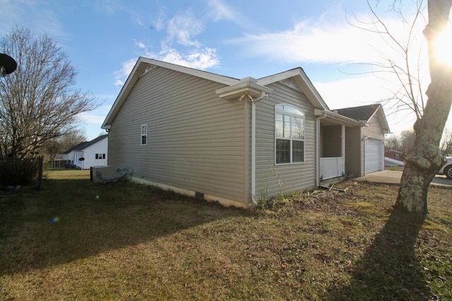
[{"label": "beige vinyl-sided house with arched front window and porch", "polygon": [[374,137],[367,128],[376,118],[384,133],[382,114],[331,111],[302,68],[239,80],[141,57],[102,128],[109,166],[131,168],[133,180],[251,207],[261,195],[369,171],[359,137]]}]

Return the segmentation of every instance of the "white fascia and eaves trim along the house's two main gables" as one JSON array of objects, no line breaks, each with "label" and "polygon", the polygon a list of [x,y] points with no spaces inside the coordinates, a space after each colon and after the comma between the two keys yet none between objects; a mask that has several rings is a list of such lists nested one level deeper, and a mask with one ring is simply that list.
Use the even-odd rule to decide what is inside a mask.
[{"label": "white fascia and eaves trim along the house's two main gables", "polygon": [[121,91],[119,92],[117,99],[114,101],[112,109],[110,109],[104,123],[102,123],[102,128],[109,129],[110,124],[119,112],[119,109],[121,109],[121,106],[126,98],[129,96],[129,93],[133,89],[133,86],[135,85],[138,78],[155,67],[167,68],[181,73],[194,75],[198,78],[204,78],[206,80],[219,82],[226,86],[216,91],[219,97],[236,97],[236,94],[239,92],[249,94],[251,97],[255,97],[255,94],[257,95],[261,92],[270,94],[273,90],[271,90],[269,87],[266,87],[266,85],[269,85],[273,82],[284,81],[293,78],[295,85],[299,87],[300,91],[306,94],[309,102],[311,102],[314,107],[316,107],[317,109],[328,110],[328,106],[323,101],[314,85],[312,85],[311,81],[304,73],[302,68],[287,70],[283,73],[277,73],[275,75],[270,75],[258,80],[254,78],[244,78],[243,80],[239,80],[237,78],[230,78],[224,75],[209,73],[203,70],[179,66],[172,63],[148,59],[141,56],[133,67],[129,78],[127,78],[124,86],[121,88]]}]

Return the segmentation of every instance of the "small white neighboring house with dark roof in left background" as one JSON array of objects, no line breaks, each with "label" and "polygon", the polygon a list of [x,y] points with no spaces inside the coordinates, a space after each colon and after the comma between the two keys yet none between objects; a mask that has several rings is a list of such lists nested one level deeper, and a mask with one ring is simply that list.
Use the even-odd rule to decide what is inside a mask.
[{"label": "small white neighboring house with dark roof in left background", "polygon": [[[62,159],[71,160],[77,168],[90,169],[92,166],[107,166],[108,135],[81,142],[63,153]],[[80,158],[84,158],[83,161]]]}]

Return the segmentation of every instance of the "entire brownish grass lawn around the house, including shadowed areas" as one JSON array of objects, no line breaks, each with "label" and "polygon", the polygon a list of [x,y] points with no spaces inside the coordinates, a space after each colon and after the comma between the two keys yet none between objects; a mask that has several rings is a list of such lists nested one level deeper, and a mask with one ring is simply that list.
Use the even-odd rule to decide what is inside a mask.
[{"label": "entire brownish grass lawn around the house, including shadowed areas", "polygon": [[0,300],[452,300],[452,190],[422,225],[398,188],[224,208],[89,171],[0,192]]}]

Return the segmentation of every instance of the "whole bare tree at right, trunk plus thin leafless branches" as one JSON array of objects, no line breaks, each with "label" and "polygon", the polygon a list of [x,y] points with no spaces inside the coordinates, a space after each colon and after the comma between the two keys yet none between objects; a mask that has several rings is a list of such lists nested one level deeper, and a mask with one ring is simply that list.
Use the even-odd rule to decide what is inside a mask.
[{"label": "whole bare tree at right, trunk plus thin leafless branches", "polygon": [[[367,2],[369,4],[369,2]],[[379,0],[376,1],[379,3]],[[403,25],[408,29],[408,37],[398,39],[393,35],[386,24],[369,8],[374,16],[371,27],[359,27],[383,37],[385,42],[396,52],[399,58],[391,57],[380,51],[380,63],[371,63],[378,75],[380,72],[391,73],[396,77],[399,86],[393,91],[393,97],[386,99],[391,109],[397,111],[409,109],[415,113],[416,121],[413,126],[415,142],[412,151],[405,156],[405,168],[400,181],[400,189],[395,208],[413,214],[416,219],[423,220],[428,213],[427,193],[436,171],[444,162],[439,154],[441,134],[446,125],[448,113],[452,102],[452,68],[439,61],[436,56],[435,42],[448,25],[452,0],[428,0],[427,26],[424,28],[424,37],[427,40],[430,84],[424,99],[422,90],[422,52],[413,49],[417,39],[417,23],[424,20],[422,10],[424,1],[416,0],[417,13],[411,21],[405,19],[401,12],[402,1],[394,0],[391,11],[400,16]],[[403,2],[405,4],[405,2]],[[364,23],[362,23],[364,24]],[[378,50],[378,49],[377,49]],[[413,55],[415,53],[415,55]],[[398,59],[402,58],[401,61]],[[412,62],[415,61],[415,64]],[[413,68],[413,66],[415,66]]]}]

